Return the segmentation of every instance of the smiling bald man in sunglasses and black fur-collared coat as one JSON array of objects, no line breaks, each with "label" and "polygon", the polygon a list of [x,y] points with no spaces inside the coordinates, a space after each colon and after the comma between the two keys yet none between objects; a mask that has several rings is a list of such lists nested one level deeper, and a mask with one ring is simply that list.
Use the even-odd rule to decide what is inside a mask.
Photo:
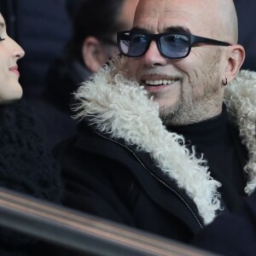
[{"label": "smiling bald man in sunglasses and black fur-collared coat", "polygon": [[236,10],[140,0],[118,44],[76,93],[79,136],[57,149],[65,204],[189,242],[256,184],[255,74],[240,73]]}]

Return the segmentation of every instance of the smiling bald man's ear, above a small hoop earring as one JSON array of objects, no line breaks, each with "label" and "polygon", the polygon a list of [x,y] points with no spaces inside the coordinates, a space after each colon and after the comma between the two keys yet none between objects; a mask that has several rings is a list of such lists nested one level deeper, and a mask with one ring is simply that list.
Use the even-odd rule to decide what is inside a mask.
[{"label": "smiling bald man's ear, above a small hoop earring", "polygon": [[228,64],[225,68],[225,77],[229,83],[236,78],[245,59],[245,50],[240,44],[229,46]]}]

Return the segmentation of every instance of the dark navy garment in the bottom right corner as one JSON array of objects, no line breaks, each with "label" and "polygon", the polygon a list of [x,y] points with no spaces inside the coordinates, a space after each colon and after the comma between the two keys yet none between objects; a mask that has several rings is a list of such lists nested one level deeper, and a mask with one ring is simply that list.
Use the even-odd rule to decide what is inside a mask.
[{"label": "dark navy garment in the bottom right corner", "polygon": [[195,237],[197,247],[225,256],[254,256],[256,252],[256,193],[241,209],[224,213]]}]

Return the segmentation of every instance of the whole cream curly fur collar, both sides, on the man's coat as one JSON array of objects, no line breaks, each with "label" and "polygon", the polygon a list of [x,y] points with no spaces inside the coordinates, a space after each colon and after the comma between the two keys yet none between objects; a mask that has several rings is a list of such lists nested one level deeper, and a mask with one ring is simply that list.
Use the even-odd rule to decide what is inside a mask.
[{"label": "whole cream curly fur collar, both sides, on the man's coat", "polygon": [[[189,153],[183,137],[166,131],[159,118],[157,103],[148,100],[147,92],[136,81],[125,79],[116,70],[116,65],[121,63],[112,61],[92,80],[82,84],[75,94],[80,102],[76,118],[90,116],[100,131],[123,138],[126,143],[137,145],[138,150],[148,152],[162,172],[176,180],[179,188],[186,190],[205,224],[209,224],[220,210],[217,189],[221,184],[210,176],[205,160],[197,159],[195,152]],[[241,72],[230,84],[226,96],[230,113],[237,116],[242,140],[250,152],[246,166],[250,173],[247,194],[253,191],[256,183],[255,78],[254,73]]]}]

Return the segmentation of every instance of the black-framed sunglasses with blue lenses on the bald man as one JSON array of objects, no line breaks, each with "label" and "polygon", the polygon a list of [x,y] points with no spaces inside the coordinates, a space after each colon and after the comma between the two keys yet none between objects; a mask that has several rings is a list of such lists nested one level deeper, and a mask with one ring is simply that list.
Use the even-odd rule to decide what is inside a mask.
[{"label": "black-framed sunglasses with blue lenses on the bald man", "polygon": [[192,34],[179,34],[165,32],[160,34],[148,34],[141,32],[118,32],[117,42],[119,51],[128,57],[144,55],[150,43],[154,40],[160,54],[169,59],[181,59],[189,55],[191,47],[195,44],[214,44],[229,46],[229,43],[210,38],[201,38]]}]

